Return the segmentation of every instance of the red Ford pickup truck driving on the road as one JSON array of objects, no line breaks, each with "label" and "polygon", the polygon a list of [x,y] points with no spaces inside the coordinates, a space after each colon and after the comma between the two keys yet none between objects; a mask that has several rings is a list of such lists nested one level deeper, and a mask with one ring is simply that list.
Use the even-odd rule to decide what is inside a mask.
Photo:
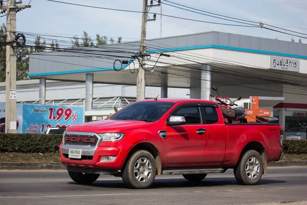
[{"label": "red Ford pickup truck driving on the road", "polygon": [[181,174],[201,181],[233,169],[241,185],[255,185],[267,163],[280,160],[278,124],[225,124],[217,103],[198,99],[137,101],[106,120],[70,126],[60,157],[70,177],[93,183],[100,174],[122,177],[145,189],[156,175]]}]

